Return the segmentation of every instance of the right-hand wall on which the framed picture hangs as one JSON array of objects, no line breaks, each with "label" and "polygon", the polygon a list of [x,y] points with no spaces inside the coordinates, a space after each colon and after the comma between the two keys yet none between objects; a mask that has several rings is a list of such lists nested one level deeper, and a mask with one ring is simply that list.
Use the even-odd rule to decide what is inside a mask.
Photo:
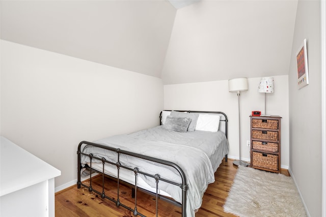
[{"label": "right-hand wall on which the framed picture hangs", "polygon": [[[307,39],[309,85],[297,88],[296,52]],[[320,1],[299,1],[289,69],[290,171],[310,216],[322,216]]]}]

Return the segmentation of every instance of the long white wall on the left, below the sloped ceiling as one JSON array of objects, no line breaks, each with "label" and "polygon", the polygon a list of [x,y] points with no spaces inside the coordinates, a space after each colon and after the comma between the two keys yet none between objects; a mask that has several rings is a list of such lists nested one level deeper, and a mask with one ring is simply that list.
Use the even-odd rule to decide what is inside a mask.
[{"label": "long white wall on the left, below the sloped ceiling", "polygon": [[159,78],[1,41],[1,135],[61,170],[56,187],[80,141],[158,125],[162,98]]}]

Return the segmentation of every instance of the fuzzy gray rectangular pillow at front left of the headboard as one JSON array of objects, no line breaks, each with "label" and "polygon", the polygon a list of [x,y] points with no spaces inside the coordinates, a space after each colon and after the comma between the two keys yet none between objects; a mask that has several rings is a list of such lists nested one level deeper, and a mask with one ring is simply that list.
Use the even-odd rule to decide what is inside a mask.
[{"label": "fuzzy gray rectangular pillow at front left of the headboard", "polygon": [[165,124],[163,125],[163,129],[185,133],[187,132],[191,121],[192,120],[188,117],[175,117],[168,115]]}]

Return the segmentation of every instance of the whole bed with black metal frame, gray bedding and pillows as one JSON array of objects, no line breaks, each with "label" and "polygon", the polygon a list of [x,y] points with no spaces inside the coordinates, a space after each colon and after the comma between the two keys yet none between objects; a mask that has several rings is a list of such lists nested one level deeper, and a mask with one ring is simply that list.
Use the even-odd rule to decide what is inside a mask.
[{"label": "whole bed with black metal frame, gray bedding and pillows", "polygon": [[[81,186],[133,212],[137,210],[137,191],[181,206],[182,216],[195,216],[208,184],[223,158],[227,161],[227,116],[223,112],[161,111],[160,125],[131,134],[82,141],[78,145],[77,188]],[[117,180],[117,197],[81,181],[84,170]],[[134,208],[121,203],[119,184],[132,185]]]}]

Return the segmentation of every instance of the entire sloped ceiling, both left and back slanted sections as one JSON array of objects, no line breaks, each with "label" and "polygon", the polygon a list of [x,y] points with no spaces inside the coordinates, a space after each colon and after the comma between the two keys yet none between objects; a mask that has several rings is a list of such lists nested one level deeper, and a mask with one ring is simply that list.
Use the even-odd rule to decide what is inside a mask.
[{"label": "entire sloped ceiling, both left and back slanted sections", "polygon": [[297,1],[171,1],[0,1],[1,39],[165,84],[288,74]]}]

